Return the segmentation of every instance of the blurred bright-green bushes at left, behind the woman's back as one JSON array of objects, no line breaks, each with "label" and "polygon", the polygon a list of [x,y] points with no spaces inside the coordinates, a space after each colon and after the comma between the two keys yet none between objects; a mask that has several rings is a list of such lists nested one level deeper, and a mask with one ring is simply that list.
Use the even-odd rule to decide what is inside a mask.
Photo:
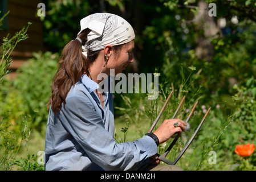
[{"label": "blurred bright-green bushes at left, behind the woman's back", "polygon": [[34,53],[19,70],[15,80],[4,77],[0,88],[0,127],[1,169],[42,170],[36,156],[16,159],[22,143],[30,139],[31,129],[43,135],[46,129],[48,110],[46,104],[50,98],[50,85],[58,67],[58,56],[51,52]]}]

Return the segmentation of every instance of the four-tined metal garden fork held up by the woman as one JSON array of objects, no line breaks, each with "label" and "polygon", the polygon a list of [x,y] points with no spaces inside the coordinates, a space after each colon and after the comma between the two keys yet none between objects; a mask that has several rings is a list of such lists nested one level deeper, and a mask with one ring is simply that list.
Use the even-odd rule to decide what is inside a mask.
[{"label": "four-tined metal garden fork held up by the woman", "polygon": [[[169,94],[167,100],[165,101],[165,104],[164,106],[162,106],[162,109],[159,113],[159,115],[157,115],[157,118],[155,119],[155,121],[153,122],[151,128],[149,129],[148,133],[151,133],[152,130],[154,129],[154,127],[156,126],[156,123],[159,121],[159,118],[161,117],[161,114],[163,113],[167,103],[169,102],[170,100],[170,97],[172,96],[172,93],[173,91]],[[178,110],[180,110],[181,108],[181,105],[183,104],[184,100],[185,100],[185,97],[184,96],[180,102],[180,104],[178,105],[178,108],[176,109],[175,113],[173,114],[173,117],[172,119],[174,119],[178,113]],[[193,109],[190,111],[189,113],[189,116],[188,118],[186,118],[186,123],[189,122],[189,119],[191,118],[192,114],[194,113],[194,110],[196,109],[196,106],[197,106],[198,102],[196,102],[196,104],[193,106]],[[211,107],[209,107],[208,111],[205,113],[204,115],[204,118],[202,119],[202,121],[200,122],[200,124],[198,125],[196,131],[194,132],[194,134],[192,135],[192,137],[189,139],[189,142],[186,144],[186,146],[182,149],[182,151],[180,152],[180,154],[178,154],[178,156],[176,157],[176,159],[174,159],[173,161],[170,161],[168,159],[166,159],[166,156],[169,154],[170,150],[172,149],[172,147],[174,146],[174,144],[177,142],[178,138],[181,137],[181,134],[177,134],[176,137],[173,139],[172,143],[170,144],[170,146],[167,148],[167,150],[164,152],[164,154],[162,155],[159,155],[159,154],[156,154],[162,162],[165,162],[166,164],[169,164],[169,165],[175,165],[178,160],[181,158],[181,156],[184,154],[184,152],[188,149],[188,147],[190,146],[190,144],[192,143],[194,137],[196,137],[199,129],[201,128],[202,124],[204,123],[209,111],[210,111]],[[152,161],[153,162],[153,161]]]}]

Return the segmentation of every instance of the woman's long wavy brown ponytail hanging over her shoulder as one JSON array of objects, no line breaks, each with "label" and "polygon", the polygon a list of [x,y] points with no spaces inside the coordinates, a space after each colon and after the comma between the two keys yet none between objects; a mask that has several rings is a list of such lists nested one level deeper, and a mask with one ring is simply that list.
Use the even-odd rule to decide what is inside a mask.
[{"label": "woman's long wavy brown ponytail hanging over her shoulder", "polygon": [[[90,31],[89,28],[86,28],[78,35],[83,45],[87,42],[87,35]],[[55,114],[59,113],[62,103],[63,105],[66,104],[65,100],[71,86],[74,86],[84,73],[88,73],[91,63],[92,60],[83,55],[78,39],[71,40],[64,47],[60,56],[58,71],[52,82],[52,95],[47,104],[47,106],[52,106]]]}]

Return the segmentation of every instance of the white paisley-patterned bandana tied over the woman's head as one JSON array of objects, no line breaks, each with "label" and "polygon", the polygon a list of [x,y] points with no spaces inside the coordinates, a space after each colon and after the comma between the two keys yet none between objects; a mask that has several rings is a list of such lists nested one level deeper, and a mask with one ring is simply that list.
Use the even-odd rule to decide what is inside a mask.
[{"label": "white paisley-patterned bandana tied over the woman's head", "polygon": [[[82,46],[83,54],[87,56],[87,50],[99,51],[105,46],[117,46],[135,39],[135,33],[131,24],[125,19],[110,13],[95,13],[80,20],[82,32],[90,28],[87,42]],[[78,34],[80,34],[80,32]]]}]

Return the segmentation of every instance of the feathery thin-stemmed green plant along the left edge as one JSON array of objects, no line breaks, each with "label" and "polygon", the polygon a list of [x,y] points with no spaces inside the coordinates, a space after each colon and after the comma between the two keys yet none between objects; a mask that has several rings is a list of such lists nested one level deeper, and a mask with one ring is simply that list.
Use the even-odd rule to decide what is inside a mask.
[{"label": "feathery thin-stemmed green plant along the left edge", "polygon": [[[8,13],[7,13],[8,14]],[[2,26],[2,20],[7,15],[5,14],[0,19],[0,26]],[[13,52],[14,48],[17,46],[19,42],[29,38],[26,34],[30,22],[28,26],[23,27],[21,31],[18,31],[14,36],[10,36],[8,34],[5,38],[3,38],[2,46],[0,47],[0,84],[2,84],[3,76],[7,75],[9,71],[10,64],[12,63],[12,57],[10,56]],[[5,86],[1,85],[1,89],[5,90]],[[1,106],[4,105],[2,103],[5,98],[5,93],[0,92],[0,101]],[[13,110],[9,110],[6,108],[1,108],[0,115],[0,169],[1,170],[10,170],[13,167],[13,161],[17,157],[18,152],[22,146],[22,143],[29,140],[31,129],[31,119],[33,118],[30,114],[19,115],[18,125],[12,120],[9,120],[9,115],[13,114]]]}]

